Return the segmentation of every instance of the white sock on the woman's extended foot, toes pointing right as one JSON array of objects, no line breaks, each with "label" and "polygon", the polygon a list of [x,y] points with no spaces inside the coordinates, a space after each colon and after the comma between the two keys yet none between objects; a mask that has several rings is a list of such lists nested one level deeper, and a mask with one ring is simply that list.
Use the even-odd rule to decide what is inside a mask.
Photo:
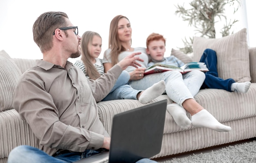
[{"label": "white sock on the woman's extended foot, toes pointing right", "polygon": [[218,122],[218,120],[216,120],[215,117],[205,109],[199,111],[195,115],[192,115],[191,121],[192,125],[195,127],[207,127],[219,132],[227,132],[231,130],[231,127]]}]

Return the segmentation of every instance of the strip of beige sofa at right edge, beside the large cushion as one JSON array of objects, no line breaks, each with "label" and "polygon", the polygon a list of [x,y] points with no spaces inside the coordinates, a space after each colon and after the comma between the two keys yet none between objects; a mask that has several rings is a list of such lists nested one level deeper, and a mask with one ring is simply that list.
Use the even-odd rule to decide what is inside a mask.
[{"label": "strip of beige sofa at right edge, beside the large cushion", "polygon": [[249,58],[252,83],[256,83],[256,47],[249,48]]}]

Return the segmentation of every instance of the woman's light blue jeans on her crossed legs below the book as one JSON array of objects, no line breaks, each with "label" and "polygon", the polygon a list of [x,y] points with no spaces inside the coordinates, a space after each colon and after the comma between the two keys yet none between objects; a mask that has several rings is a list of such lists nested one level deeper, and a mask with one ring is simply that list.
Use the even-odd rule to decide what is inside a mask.
[{"label": "woman's light blue jeans on her crossed legs below the book", "polygon": [[199,70],[193,70],[183,75],[178,71],[166,71],[146,75],[140,80],[132,80],[129,85],[134,89],[145,90],[160,80],[164,80],[167,96],[182,106],[185,100],[194,98],[204,79],[204,73]]}]

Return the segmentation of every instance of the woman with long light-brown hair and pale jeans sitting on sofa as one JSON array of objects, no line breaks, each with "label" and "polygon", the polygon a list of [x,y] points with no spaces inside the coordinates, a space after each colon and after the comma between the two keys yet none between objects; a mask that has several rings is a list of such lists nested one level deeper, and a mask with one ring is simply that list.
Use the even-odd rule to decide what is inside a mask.
[{"label": "woman with long light-brown hair and pale jeans sitting on sofa", "polygon": [[[180,72],[167,71],[144,76],[144,70],[148,65],[146,48],[132,48],[131,35],[132,28],[127,17],[117,15],[112,19],[110,23],[108,49],[104,52],[103,58],[105,72],[108,72],[112,66],[127,55],[135,52],[141,52],[139,57],[144,60],[144,62],[140,62],[142,66],[136,69],[129,66],[126,69],[131,76],[129,85],[131,85],[134,89],[146,89],[150,87],[150,85],[153,85],[160,80],[164,80],[166,84],[165,91],[167,96],[179,104],[174,108],[175,112],[179,113],[186,109],[186,111],[188,111],[192,116],[191,121],[189,118],[186,120],[180,119],[177,123],[179,126],[182,128],[189,128],[192,123],[193,126],[207,127],[219,132],[227,132],[231,130],[230,126],[225,126],[218,122],[213,115],[211,115],[206,109],[195,101],[193,95],[185,85]],[[205,78],[204,73],[198,73],[197,78],[200,80],[197,82],[201,83],[202,85]],[[198,91],[201,85],[197,85]],[[181,107],[184,109],[181,109]]]}]

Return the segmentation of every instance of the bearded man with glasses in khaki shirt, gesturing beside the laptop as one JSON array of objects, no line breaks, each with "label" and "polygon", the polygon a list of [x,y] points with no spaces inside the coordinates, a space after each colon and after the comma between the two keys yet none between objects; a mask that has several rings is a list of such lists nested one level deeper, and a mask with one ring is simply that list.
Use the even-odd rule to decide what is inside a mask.
[{"label": "bearded man with glasses in khaki shirt, gesturing beside the laptop", "polygon": [[20,77],[13,108],[31,127],[39,149],[18,146],[7,162],[72,163],[109,149],[110,137],[99,120],[96,102],[109,93],[122,70],[143,60],[130,55],[99,80],[88,80],[67,61],[81,55],[81,37],[65,13],[41,14],[33,25],[33,37],[43,60]]}]

